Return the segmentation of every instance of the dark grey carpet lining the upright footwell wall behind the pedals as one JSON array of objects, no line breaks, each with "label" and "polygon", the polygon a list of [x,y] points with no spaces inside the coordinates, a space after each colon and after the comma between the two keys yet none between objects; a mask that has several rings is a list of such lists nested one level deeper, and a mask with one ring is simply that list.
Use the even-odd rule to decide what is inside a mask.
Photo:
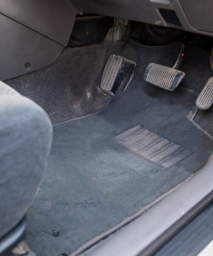
[{"label": "dark grey carpet lining the upright footwell wall behind the pedals", "polygon": [[[180,47],[180,43],[146,47],[127,40],[116,44],[65,48],[58,60],[49,67],[5,82],[37,102],[49,114],[52,123],[58,124],[96,113],[107,105],[110,98],[99,90],[99,85],[104,66],[112,53],[136,61],[135,73],[138,75],[144,73],[150,62],[172,67]],[[179,87],[199,94],[212,76],[209,58],[203,49],[189,45],[180,67],[186,76]],[[152,88],[152,85],[148,86],[147,93],[153,93]],[[212,108],[209,112],[211,116]]]}]

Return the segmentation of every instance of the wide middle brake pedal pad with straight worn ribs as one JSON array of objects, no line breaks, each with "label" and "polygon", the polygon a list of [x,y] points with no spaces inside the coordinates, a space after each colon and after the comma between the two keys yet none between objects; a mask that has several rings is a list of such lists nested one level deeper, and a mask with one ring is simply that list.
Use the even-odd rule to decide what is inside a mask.
[{"label": "wide middle brake pedal pad with straight worn ribs", "polygon": [[185,73],[156,63],[148,64],[144,80],[166,90],[175,90]]}]

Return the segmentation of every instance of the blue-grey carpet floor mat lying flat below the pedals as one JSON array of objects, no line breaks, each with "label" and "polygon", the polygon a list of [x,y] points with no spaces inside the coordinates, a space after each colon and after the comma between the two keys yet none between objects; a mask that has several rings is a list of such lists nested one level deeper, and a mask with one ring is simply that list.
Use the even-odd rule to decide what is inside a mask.
[{"label": "blue-grey carpet floor mat lying flat below the pedals", "polygon": [[[166,55],[172,65],[175,44],[133,44],[135,50],[131,44],[115,48],[115,53],[126,53],[139,66],[130,87],[112,97],[101,112],[54,126],[49,166],[27,214],[25,241],[37,255],[72,253],[190,177],[212,153],[213,141],[187,119],[196,94],[181,87],[171,93],[143,80],[141,70],[148,62],[159,62]],[[97,47],[101,46],[93,46],[94,51]],[[106,59],[109,49],[115,50],[106,47]],[[187,154],[170,168],[138,154],[135,145],[124,143],[137,139],[138,134],[131,137],[130,129],[135,127],[140,133],[148,131],[139,134],[141,142],[157,136],[156,140],[178,145]],[[121,143],[125,132],[130,137],[123,137]],[[155,140],[151,143],[150,153],[156,156]],[[147,146],[140,144],[140,149]],[[173,160],[175,152],[166,152],[167,160]],[[53,230],[59,230],[58,237]]]}]

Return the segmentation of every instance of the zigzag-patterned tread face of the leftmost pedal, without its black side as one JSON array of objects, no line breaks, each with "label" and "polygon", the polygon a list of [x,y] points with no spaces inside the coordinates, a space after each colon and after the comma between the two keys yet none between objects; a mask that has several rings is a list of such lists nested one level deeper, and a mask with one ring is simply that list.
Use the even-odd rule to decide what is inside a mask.
[{"label": "zigzag-patterned tread face of the leftmost pedal, without its black side", "polygon": [[111,91],[115,82],[118,71],[122,65],[123,58],[119,55],[112,54],[104,68],[101,79],[101,89],[104,91]]}]

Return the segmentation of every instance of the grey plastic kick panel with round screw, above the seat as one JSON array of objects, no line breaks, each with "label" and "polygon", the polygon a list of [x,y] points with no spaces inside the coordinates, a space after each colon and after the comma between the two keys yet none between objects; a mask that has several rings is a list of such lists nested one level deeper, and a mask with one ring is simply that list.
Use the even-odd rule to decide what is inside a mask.
[{"label": "grey plastic kick panel with round screw, above the seat", "polygon": [[63,46],[0,14],[0,80],[52,64]]}]

